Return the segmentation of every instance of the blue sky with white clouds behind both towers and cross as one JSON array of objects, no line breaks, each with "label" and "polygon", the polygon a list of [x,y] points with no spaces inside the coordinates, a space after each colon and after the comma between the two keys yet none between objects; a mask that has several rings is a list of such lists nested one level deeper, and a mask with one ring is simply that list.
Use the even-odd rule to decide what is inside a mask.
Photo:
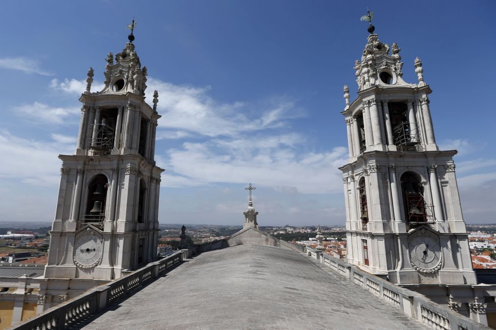
[{"label": "blue sky with white clouds behind both towers and cross", "polygon": [[[161,223],[344,224],[343,85],[352,98],[367,6],[403,78],[422,58],[440,148],[456,148],[465,221],[496,222],[494,1],[10,1],[2,4],[0,221],[52,221],[79,95],[127,41],[159,91]],[[149,97],[148,97],[149,98]],[[148,99],[150,102],[150,99]]]}]

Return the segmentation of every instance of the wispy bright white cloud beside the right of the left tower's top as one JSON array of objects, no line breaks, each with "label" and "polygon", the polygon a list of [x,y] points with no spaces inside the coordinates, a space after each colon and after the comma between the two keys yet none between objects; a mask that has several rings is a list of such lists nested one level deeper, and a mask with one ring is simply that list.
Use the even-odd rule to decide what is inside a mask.
[{"label": "wispy bright white cloud beside the right of the left tower's top", "polygon": [[207,137],[236,137],[243,132],[287,126],[286,120],[302,116],[292,101],[274,99],[262,109],[259,118],[249,118],[244,102],[218,103],[209,88],[177,86],[149,78],[148,93],[159,93],[158,110],[162,114],[159,128],[191,132]]}]

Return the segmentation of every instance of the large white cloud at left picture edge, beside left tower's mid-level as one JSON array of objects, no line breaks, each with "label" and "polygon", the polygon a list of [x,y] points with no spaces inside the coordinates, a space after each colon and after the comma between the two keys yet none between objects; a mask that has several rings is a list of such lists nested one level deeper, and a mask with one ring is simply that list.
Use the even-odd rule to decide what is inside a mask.
[{"label": "large white cloud at left picture edge, beside left tower's mid-level", "polygon": [[6,131],[0,131],[0,178],[18,179],[36,186],[57,186],[60,181],[60,153],[71,154],[67,144],[50,141],[30,141]]}]

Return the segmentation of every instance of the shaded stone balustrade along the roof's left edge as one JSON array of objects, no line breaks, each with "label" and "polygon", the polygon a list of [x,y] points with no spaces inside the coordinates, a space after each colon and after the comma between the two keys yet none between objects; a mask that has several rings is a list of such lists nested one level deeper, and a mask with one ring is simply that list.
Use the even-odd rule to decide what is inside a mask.
[{"label": "shaded stone balustrade along the roof's left edge", "polygon": [[18,323],[9,330],[67,329],[88,316],[105,310],[146,283],[172,270],[187,258],[188,250],[180,250],[150,263],[118,280],[89,289],[83,294],[54,306],[45,312]]}]

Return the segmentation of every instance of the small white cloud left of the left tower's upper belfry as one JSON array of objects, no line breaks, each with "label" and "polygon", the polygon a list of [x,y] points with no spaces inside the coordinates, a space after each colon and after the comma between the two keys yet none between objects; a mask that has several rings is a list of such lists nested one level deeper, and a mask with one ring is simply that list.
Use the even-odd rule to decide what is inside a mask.
[{"label": "small white cloud left of the left tower's upper belfry", "polygon": [[23,118],[33,123],[51,123],[62,124],[66,123],[69,117],[75,117],[80,114],[80,109],[75,107],[51,107],[47,104],[34,102],[33,104],[25,104],[15,108],[16,111],[23,114]]}]

